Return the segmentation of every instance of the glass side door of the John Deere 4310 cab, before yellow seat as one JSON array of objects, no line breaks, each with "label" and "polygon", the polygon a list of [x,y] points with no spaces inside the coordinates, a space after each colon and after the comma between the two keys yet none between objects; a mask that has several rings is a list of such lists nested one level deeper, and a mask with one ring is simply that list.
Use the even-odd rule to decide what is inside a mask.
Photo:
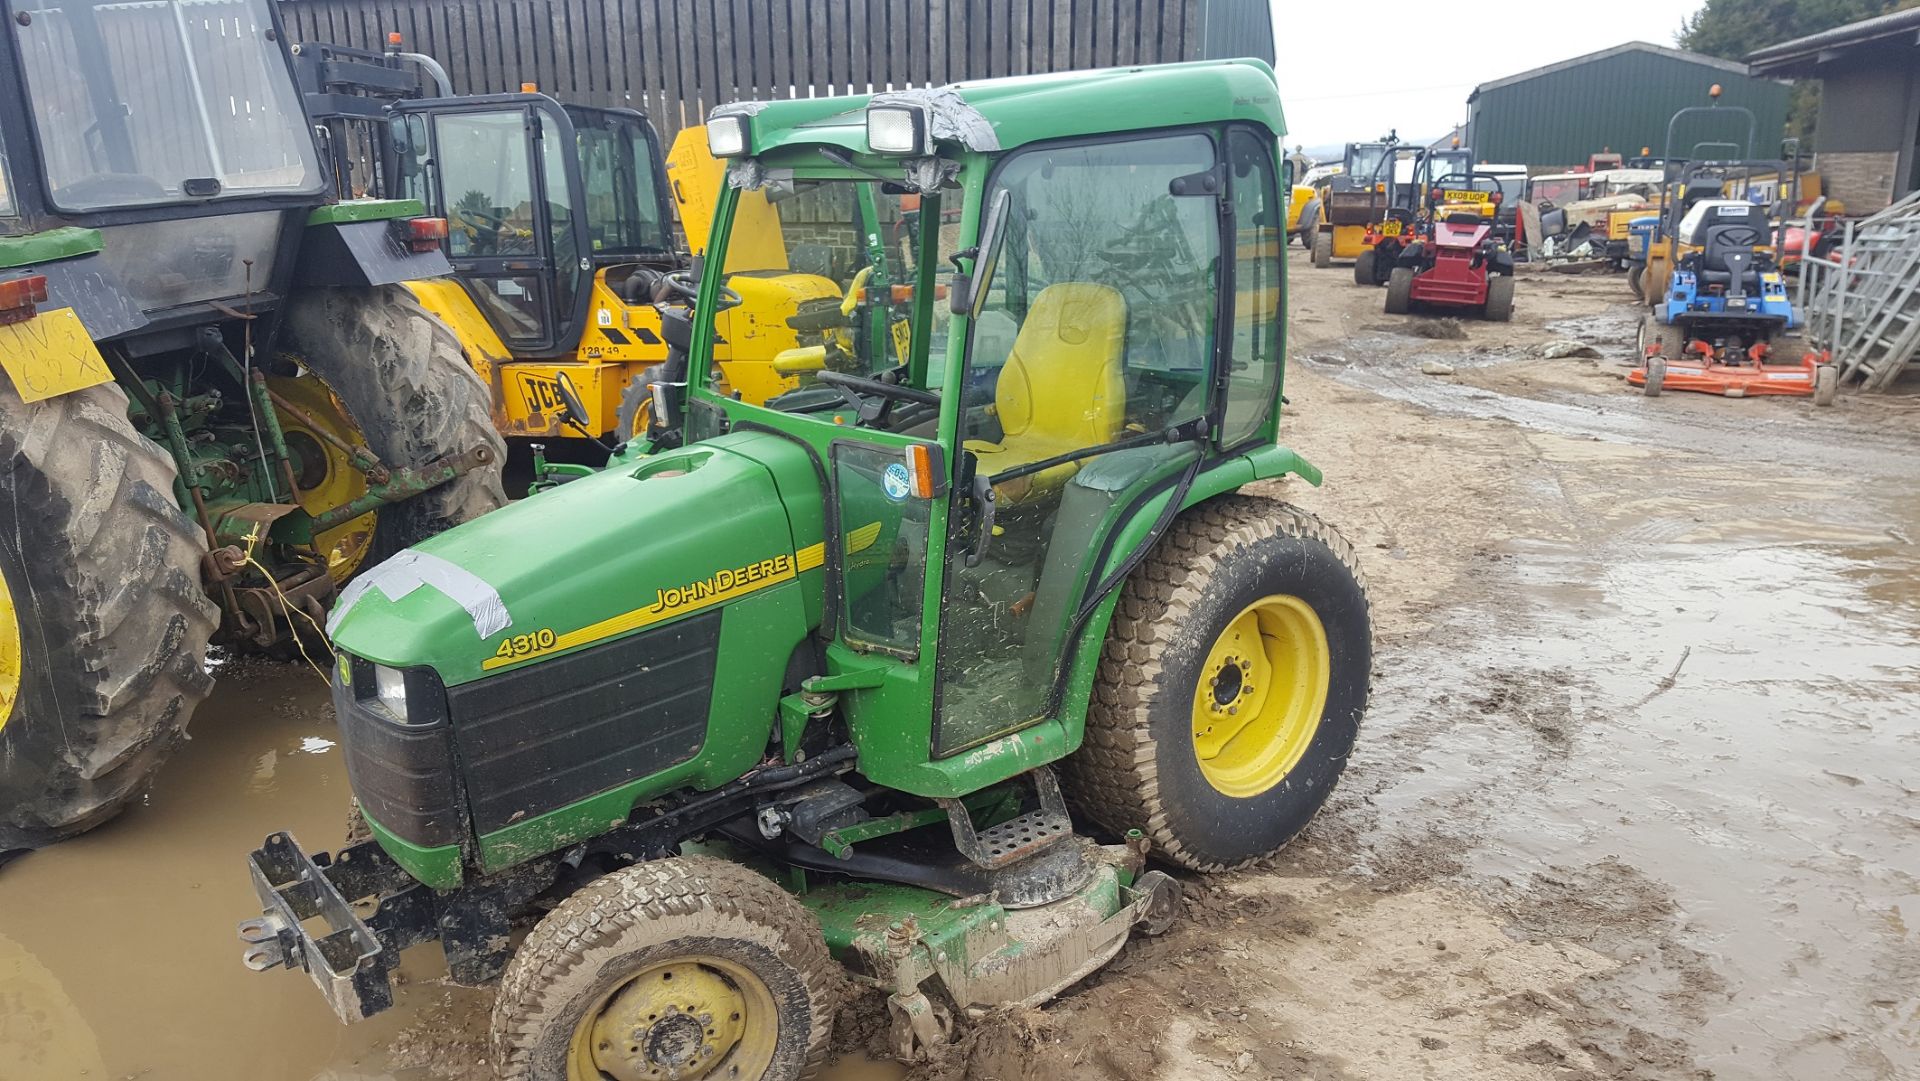
[{"label": "glass side door of the John Deere 4310 cab, before yellow seat", "polygon": [[1156,444],[1058,461],[1206,413],[1219,209],[1171,184],[1213,163],[1206,134],[1052,146],[1016,154],[989,186],[1010,194],[1010,225],[968,348],[962,440],[996,522],[956,538],[979,559],[948,568],[941,753],[1041,716],[1108,511],[1192,455]]}]

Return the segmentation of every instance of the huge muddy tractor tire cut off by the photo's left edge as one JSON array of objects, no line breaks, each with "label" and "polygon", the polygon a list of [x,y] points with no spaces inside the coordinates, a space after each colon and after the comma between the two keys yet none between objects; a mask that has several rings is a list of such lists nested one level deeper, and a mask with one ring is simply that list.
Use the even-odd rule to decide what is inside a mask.
[{"label": "huge muddy tractor tire cut off by the photo's left edge", "polygon": [[113,818],[213,687],[173,484],[119,386],[27,405],[0,378],[0,854]]}]

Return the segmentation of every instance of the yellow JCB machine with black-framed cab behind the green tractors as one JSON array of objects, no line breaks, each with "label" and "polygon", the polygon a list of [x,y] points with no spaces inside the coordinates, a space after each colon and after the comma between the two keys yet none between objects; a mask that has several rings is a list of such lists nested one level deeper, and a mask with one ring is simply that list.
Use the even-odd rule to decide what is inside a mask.
[{"label": "yellow JCB machine with black-framed cab behind the green tractors", "polygon": [[[457,96],[432,58],[401,52],[399,35],[382,52],[294,48],[309,111],[363,125],[365,138],[332,148],[348,156],[344,169],[365,190],[419,200],[447,219],[442,248],[453,275],[407,288],[459,334],[493,392],[499,432],[626,442],[645,422],[643,397],[668,349],[647,290],[687,265],[672,204],[705,240],[722,182],[705,132],[687,129],[662,152],[636,109],[563,104],[532,84]],[[837,346],[874,305],[839,278],[851,280],[858,263],[887,280],[900,217],[849,221],[835,236],[814,225],[808,200],[745,213],[762,238],[728,261],[743,303],[722,313],[712,361],[730,392],[764,401],[845,351]],[[781,215],[797,219],[791,238]],[[561,374],[584,407],[570,422]]]}]

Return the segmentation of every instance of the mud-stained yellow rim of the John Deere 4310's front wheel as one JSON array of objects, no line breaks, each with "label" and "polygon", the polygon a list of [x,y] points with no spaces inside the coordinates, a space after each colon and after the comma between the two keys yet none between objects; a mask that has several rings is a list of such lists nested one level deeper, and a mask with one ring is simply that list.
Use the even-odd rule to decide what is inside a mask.
[{"label": "mud-stained yellow rim of the John Deere 4310's front wheel", "polygon": [[682,956],[647,966],[588,1010],[566,1050],[568,1081],[749,1081],[774,1064],[774,993],[747,966]]}]

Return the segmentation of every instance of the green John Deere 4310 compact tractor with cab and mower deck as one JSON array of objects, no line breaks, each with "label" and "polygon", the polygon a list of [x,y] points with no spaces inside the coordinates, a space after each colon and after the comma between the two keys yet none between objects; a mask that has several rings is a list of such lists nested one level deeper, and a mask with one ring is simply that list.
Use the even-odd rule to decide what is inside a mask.
[{"label": "green John Deere 4310 compact tractor with cab and mower deck", "polygon": [[1352,545],[1240,493],[1319,480],[1275,445],[1269,67],[724,106],[707,132],[708,271],[758,240],[751,190],[908,200],[864,255],[904,315],[755,405],[707,374],[720,275],[660,282],[645,436],[336,609],[371,841],[250,860],[250,968],[351,1021],[438,941],[455,981],[499,979],[509,1079],[804,1077],[849,987],[902,1056],[1043,1002],[1177,916],[1148,856],[1294,837],[1367,705]]}]

